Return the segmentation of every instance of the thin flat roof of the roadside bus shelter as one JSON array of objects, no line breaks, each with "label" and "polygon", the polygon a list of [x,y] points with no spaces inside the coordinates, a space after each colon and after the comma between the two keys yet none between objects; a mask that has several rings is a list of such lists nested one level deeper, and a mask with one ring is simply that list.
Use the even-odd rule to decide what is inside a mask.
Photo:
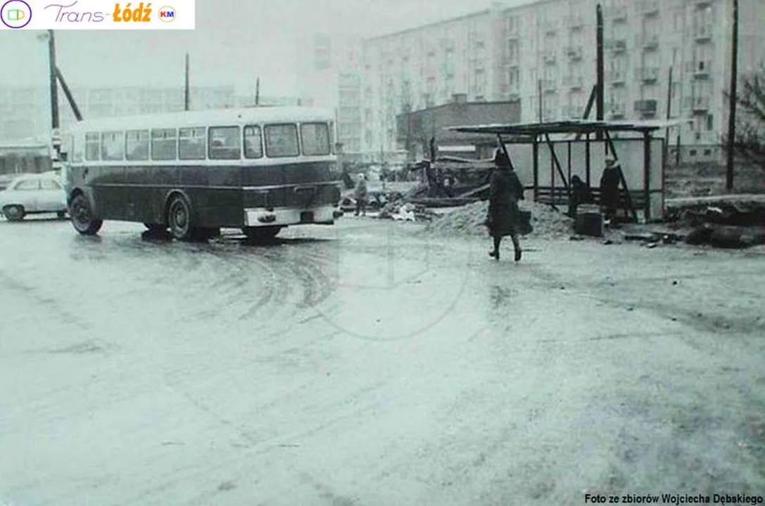
[{"label": "thin flat roof of the roadside bus shelter", "polygon": [[471,134],[493,135],[552,135],[552,134],[594,134],[598,131],[647,133],[681,124],[678,120],[649,121],[588,121],[571,120],[549,123],[495,123],[492,125],[460,125],[445,127],[446,130]]}]

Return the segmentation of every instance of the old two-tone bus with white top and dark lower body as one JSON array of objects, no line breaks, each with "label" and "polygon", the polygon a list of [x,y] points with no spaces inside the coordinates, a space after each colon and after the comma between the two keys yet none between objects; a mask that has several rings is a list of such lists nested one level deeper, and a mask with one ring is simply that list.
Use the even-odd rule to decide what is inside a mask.
[{"label": "old two-tone bus with white top and dark lower body", "polygon": [[94,235],[104,220],[142,222],[180,240],[331,225],[340,215],[333,129],[332,113],[304,107],[78,122],[64,135],[72,223]]}]

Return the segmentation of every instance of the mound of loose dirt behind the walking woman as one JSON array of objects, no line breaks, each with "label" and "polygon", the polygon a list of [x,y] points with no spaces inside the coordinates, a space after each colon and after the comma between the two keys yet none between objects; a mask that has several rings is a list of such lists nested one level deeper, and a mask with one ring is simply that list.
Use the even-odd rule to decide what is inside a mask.
[{"label": "mound of loose dirt behind the walking woman", "polygon": [[[530,237],[562,238],[570,237],[573,220],[550,206],[534,202],[521,202],[524,211],[531,211],[531,224],[534,231]],[[488,234],[486,225],[487,201],[464,206],[435,219],[428,225],[428,232],[441,235],[483,235]]]}]

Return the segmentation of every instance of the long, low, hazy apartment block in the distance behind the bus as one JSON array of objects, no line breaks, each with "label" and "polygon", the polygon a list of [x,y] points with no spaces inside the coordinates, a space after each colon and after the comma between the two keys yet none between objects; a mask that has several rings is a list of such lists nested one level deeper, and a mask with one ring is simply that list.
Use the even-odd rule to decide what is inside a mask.
[{"label": "long, low, hazy apartment block in the distance behind the bus", "polygon": [[[191,109],[221,109],[238,105],[233,86],[192,86]],[[72,94],[85,118],[154,114],[184,110],[184,90],[179,87],[73,88]],[[75,121],[63,92],[59,92],[62,125]],[[0,86],[0,140],[50,136],[50,90],[45,86]]]}]

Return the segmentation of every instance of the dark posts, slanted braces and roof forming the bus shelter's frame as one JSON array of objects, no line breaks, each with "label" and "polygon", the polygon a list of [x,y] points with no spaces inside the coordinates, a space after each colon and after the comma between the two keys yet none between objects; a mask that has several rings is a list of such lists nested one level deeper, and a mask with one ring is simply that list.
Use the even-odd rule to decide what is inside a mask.
[{"label": "dark posts, slanted braces and roof forming the bus shelter's frame", "polygon": [[[653,132],[661,131],[669,126],[675,125],[679,122],[672,121],[641,121],[641,122],[606,122],[606,121],[589,121],[589,120],[571,120],[565,122],[549,122],[549,123],[516,123],[516,124],[494,124],[494,125],[462,125],[446,127],[448,130],[461,131],[465,133],[475,134],[489,134],[496,135],[497,140],[500,143],[500,147],[510,160],[510,164],[513,164],[513,158],[510,157],[509,150],[506,144],[532,144],[532,160],[533,160],[533,174],[534,174],[534,197],[539,197],[539,144],[547,144],[550,155],[552,158],[552,164],[557,170],[558,175],[561,177],[564,185],[566,196],[571,196],[571,187],[569,181],[565,177],[563,168],[561,167],[560,159],[555,152],[555,144],[551,135],[566,134],[576,135],[578,138],[584,135],[585,142],[585,155],[586,155],[586,183],[591,186],[591,164],[590,164],[590,152],[592,136],[595,135],[604,138],[606,154],[611,154],[614,159],[619,161],[617,150],[614,146],[614,141],[611,138],[611,134],[614,132],[630,132],[642,135],[643,138],[643,196],[644,206],[643,212],[646,221],[651,219],[650,216],[650,165],[651,165],[651,141],[654,138]],[[503,138],[503,136],[509,136],[509,138]],[[665,140],[666,141],[666,140]],[[662,150],[663,151],[663,150]],[[569,159],[570,164],[570,159]],[[624,175],[621,177],[621,185],[625,190],[627,199],[627,210],[630,212],[630,216],[634,221],[637,220],[636,209],[633,206],[632,199],[630,198],[630,189],[627,187],[627,180]]]}]

